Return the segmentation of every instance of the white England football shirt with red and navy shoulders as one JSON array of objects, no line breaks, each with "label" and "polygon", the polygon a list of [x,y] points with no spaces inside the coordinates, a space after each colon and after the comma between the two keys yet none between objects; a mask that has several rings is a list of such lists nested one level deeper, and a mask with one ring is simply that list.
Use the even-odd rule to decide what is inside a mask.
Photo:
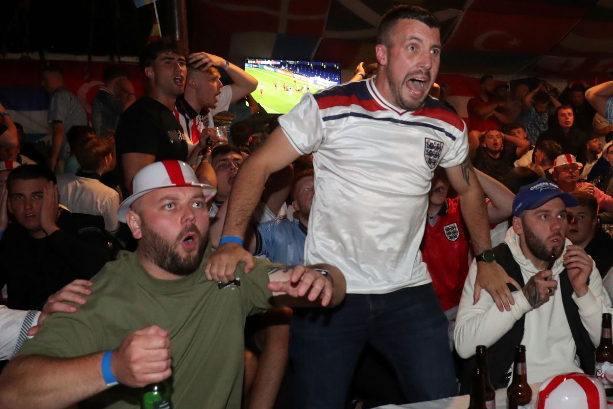
[{"label": "white England football shirt with red and navy shoulders", "polygon": [[295,150],[313,152],[305,263],[337,266],[354,294],[430,282],[419,251],[430,181],[468,155],[462,119],[431,97],[402,111],[369,79],[305,94],[279,122]]}]

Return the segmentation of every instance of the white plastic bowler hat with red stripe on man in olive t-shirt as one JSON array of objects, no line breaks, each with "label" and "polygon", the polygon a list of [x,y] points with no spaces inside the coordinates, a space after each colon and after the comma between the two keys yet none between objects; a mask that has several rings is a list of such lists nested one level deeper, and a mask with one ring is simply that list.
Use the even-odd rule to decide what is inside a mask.
[{"label": "white plastic bowler hat with red stripe on man in olive t-shirt", "polygon": [[139,197],[161,188],[198,186],[209,201],[217,189],[208,183],[200,183],[191,166],[181,161],[153,162],[140,169],[132,179],[132,194],[121,202],[117,217],[126,223],[126,213],[132,203]]}]

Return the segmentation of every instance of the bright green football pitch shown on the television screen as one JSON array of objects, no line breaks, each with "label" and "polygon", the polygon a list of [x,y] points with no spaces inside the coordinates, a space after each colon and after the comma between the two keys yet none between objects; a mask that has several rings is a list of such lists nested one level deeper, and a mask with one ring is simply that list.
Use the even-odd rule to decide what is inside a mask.
[{"label": "bright green football pitch shown on the television screen", "polygon": [[[287,77],[287,75],[277,74],[262,68],[247,68],[245,70],[257,79],[257,89],[251,96],[264,107],[268,113],[287,113],[294,105],[300,102],[300,98],[305,94],[304,91],[296,91],[297,86],[310,86],[311,94],[316,93],[321,88],[318,85],[309,84],[305,80]],[[296,83],[294,84],[294,79]],[[275,82],[279,82],[275,88]],[[264,85],[262,95],[260,85]],[[283,91],[283,84],[292,87],[292,96],[289,91]]]}]

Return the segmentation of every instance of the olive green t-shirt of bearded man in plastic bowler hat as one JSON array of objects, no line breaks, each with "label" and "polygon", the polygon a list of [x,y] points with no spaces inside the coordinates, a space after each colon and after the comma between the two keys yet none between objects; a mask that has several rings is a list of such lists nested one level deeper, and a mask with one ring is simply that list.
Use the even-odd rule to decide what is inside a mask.
[{"label": "olive green t-shirt of bearded man in plastic bowler hat", "polygon": [[[191,275],[158,280],[135,253],[121,252],[92,278],[87,303],[75,313],[47,318],[19,355],[75,357],[114,350],[137,329],[158,325],[169,332],[173,408],[240,408],[245,318],[272,307],[266,286],[273,264],[254,259],[250,273],[237,268],[240,286],[219,289],[204,275],[206,260],[205,255]],[[113,386],[85,407],[137,408],[140,393]]]}]

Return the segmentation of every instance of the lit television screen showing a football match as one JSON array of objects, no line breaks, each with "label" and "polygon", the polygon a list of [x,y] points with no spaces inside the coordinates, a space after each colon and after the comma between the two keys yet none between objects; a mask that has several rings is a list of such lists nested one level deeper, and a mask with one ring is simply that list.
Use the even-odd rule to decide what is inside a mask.
[{"label": "lit television screen showing a football match", "polygon": [[268,113],[287,113],[305,93],[341,82],[340,63],[246,58],[245,71],[257,78],[251,95]]}]

